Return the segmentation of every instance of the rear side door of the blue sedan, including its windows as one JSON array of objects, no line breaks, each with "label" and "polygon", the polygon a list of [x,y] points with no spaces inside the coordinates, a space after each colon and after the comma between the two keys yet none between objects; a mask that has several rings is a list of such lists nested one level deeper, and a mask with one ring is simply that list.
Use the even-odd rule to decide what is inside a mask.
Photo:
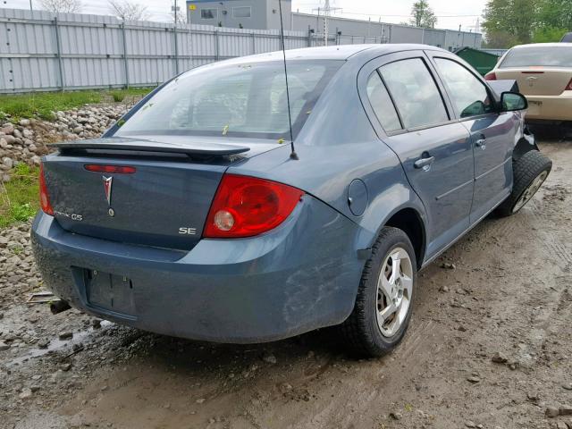
[{"label": "rear side door of the blue sedan, including its windows", "polygon": [[432,257],[469,225],[474,163],[467,129],[451,121],[422,51],[384,55],[366,64],[359,80],[374,128],[425,205]]}]

